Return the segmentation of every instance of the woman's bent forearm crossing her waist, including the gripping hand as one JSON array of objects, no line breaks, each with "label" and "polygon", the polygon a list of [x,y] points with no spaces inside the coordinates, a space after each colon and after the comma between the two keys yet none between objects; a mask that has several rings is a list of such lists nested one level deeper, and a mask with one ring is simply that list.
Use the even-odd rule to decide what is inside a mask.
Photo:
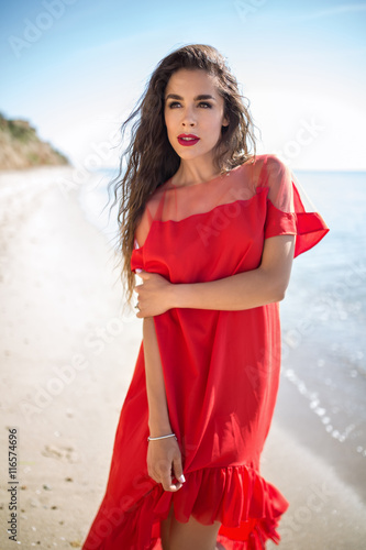
[{"label": "woman's bent forearm crossing her waist, including the gripping hand", "polygon": [[295,235],[265,240],[259,267],[208,283],[173,285],[157,274],[141,273],[137,317],[156,316],[171,308],[239,311],[284,299],[289,283]]}]

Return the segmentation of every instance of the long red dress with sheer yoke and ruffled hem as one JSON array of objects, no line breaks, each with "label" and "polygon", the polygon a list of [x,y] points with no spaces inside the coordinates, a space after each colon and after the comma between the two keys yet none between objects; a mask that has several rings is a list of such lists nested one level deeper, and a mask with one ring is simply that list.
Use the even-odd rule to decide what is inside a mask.
[{"label": "long red dress with sheer yoke and ruffled hem", "polygon": [[[210,182],[152,196],[146,235],[132,270],[171,283],[220,279],[255,270],[265,239],[296,234],[298,255],[329,231],[307,211],[303,191],[275,156],[260,155]],[[137,243],[136,243],[137,246]],[[170,309],[154,317],[171,428],[186,483],[165,492],[148,477],[148,409],[141,344],[117,430],[104,498],[85,550],[157,550],[159,521],[170,504],[179,521],[219,520],[228,550],[262,550],[278,542],[288,503],[259,474],[279,382],[279,305],[241,311]]]}]

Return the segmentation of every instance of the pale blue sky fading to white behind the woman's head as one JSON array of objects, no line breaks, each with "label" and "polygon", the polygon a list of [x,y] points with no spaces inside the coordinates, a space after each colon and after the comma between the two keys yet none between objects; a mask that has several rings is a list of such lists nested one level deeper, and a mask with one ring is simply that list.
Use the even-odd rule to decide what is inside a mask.
[{"label": "pale blue sky fading to white behind the woman's head", "polygon": [[0,110],[75,165],[118,162],[118,130],[156,64],[220,50],[262,140],[297,169],[366,169],[366,2],[13,0],[1,7]]}]

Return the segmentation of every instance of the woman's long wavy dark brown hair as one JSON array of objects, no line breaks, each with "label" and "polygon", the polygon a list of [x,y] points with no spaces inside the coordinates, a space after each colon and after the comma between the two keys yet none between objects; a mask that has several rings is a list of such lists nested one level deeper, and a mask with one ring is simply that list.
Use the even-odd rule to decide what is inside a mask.
[{"label": "woman's long wavy dark brown hair", "polygon": [[119,176],[111,183],[114,187],[113,206],[119,204],[121,275],[126,284],[129,304],[135,285],[130,263],[136,226],[151,195],[177,172],[180,163],[168,141],[164,98],[169,78],[181,68],[201,69],[217,77],[218,91],[224,99],[224,114],[230,123],[222,127],[221,139],[215,146],[217,170],[224,174],[255,155],[248,101],[240,94],[225,58],[214,47],[203,44],[190,44],[167,55],[157,65],[143,96],[122,124],[122,139],[132,125],[130,145],[121,157]]}]

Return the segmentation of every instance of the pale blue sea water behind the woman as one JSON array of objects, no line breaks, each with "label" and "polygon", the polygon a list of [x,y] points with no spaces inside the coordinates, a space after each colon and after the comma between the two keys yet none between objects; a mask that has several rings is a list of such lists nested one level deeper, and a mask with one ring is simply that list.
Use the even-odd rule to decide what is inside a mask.
[{"label": "pale blue sea water behind the woman", "polygon": [[[87,218],[113,245],[118,207],[109,210],[107,186],[115,174],[93,174],[80,193]],[[293,261],[280,304],[276,415],[357,485],[366,468],[366,173],[295,174],[330,232]]]}]

